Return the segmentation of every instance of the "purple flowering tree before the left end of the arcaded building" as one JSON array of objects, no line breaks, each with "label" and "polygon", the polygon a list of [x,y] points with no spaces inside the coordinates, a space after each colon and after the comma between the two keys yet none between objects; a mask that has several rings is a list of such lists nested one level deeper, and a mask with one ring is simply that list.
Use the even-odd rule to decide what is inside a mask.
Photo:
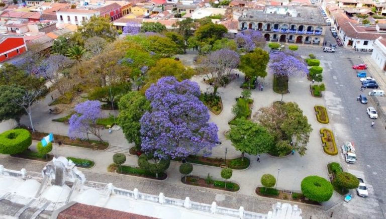
[{"label": "purple flowering tree before the left end of the arcaded building", "polygon": [[236,36],[236,44],[246,52],[253,51],[255,48],[264,48],[265,38],[260,31],[245,30]]}]

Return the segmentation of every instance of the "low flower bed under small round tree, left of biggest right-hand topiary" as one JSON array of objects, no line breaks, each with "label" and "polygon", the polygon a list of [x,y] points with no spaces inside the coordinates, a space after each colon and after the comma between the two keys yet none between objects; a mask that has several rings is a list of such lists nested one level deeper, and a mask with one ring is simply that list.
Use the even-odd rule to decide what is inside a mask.
[{"label": "low flower bed under small round tree, left of biggest right-hand topiary", "polygon": [[291,194],[291,193],[286,193],[274,188],[267,188],[265,190],[265,187],[257,187],[255,189],[255,192],[257,195],[263,196],[263,197],[270,197],[270,198],[275,198],[279,200],[288,200],[288,201],[295,201],[300,203],[320,205],[319,202],[306,199],[306,197],[302,193],[293,192]]}]

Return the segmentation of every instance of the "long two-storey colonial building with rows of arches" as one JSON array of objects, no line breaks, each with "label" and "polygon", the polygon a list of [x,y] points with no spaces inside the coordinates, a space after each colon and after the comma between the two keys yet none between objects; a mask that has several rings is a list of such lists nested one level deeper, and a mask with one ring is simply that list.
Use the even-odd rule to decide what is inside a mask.
[{"label": "long two-storey colonial building with rows of arches", "polygon": [[322,45],[326,21],[315,6],[280,6],[244,10],[239,31],[259,30],[266,41]]}]

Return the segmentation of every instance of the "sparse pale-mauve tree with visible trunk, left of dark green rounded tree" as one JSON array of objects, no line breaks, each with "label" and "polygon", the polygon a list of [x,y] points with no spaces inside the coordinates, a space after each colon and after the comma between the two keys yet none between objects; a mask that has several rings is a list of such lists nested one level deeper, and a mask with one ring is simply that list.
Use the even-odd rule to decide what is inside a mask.
[{"label": "sparse pale-mauve tree with visible trunk, left of dark green rounded tree", "polygon": [[230,49],[220,49],[209,53],[200,60],[198,71],[207,75],[212,81],[213,95],[221,86],[223,76],[228,75],[233,68],[237,68],[240,63],[239,54]]}]

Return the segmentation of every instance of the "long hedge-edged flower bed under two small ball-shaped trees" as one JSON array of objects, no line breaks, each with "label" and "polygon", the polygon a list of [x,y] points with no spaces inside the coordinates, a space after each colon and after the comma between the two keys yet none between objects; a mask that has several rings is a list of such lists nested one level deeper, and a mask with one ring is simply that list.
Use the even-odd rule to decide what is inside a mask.
[{"label": "long hedge-edged flower bed under two small ball-shaped trees", "polygon": [[181,182],[183,184],[196,185],[196,186],[201,186],[206,188],[214,188],[214,189],[219,189],[224,191],[235,192],[240,190],[240,186],[237,183],[227,181],[227,187],[225,187],[225,181],[206,180],[199,176],[186,176],[186,179],[185,177],[181,178]]}]

